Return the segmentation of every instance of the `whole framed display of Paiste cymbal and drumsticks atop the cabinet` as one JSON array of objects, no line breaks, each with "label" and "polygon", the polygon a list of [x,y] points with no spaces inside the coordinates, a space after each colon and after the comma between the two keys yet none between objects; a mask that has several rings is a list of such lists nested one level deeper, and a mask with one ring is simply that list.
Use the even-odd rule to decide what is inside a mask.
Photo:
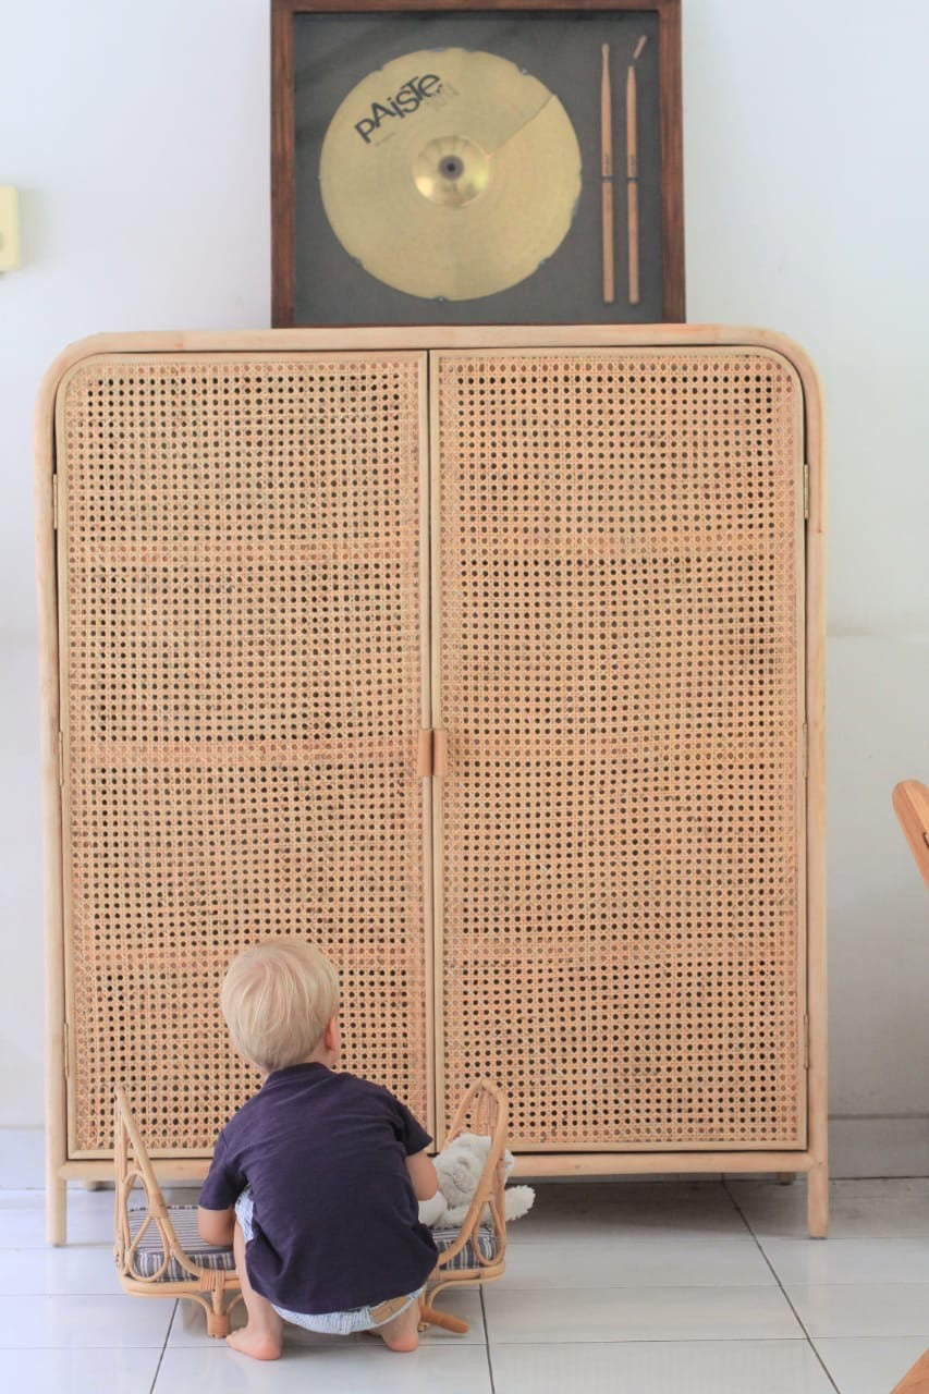
[{"label": "whole framed display of Paiste cymbal and drumsticks atop the cabinet", "polygon": [[683,307],[679,0],[273,0],[272,323]]}]

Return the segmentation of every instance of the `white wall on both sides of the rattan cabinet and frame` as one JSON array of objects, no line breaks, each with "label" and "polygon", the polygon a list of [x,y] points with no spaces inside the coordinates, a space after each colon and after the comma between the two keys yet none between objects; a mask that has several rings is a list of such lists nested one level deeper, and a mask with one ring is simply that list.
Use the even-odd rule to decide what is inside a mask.
[{"label": "white wall on both sides of the rattan cabinet and frame", "polygon": [[[96,330],[269,322],[269,0],[15,6],[0,184],[0,1122],[42,1118],[31,414]],[[688,318],[784,330],[830,424],[837,1174],[929,1171],[929,895],[890,809],[929,779],[922,0],[683,0]]]}]

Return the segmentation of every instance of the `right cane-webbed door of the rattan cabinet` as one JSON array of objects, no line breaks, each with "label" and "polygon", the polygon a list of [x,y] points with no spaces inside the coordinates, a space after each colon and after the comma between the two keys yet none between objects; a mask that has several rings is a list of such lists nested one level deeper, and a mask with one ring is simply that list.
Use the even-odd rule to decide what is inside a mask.
[{"label": "right cane-webbed door of the rattan cabinet", "polygon": [[435,357],[444,1107],[487,1076],[513,1149],[803,1146],[799,381]]}]

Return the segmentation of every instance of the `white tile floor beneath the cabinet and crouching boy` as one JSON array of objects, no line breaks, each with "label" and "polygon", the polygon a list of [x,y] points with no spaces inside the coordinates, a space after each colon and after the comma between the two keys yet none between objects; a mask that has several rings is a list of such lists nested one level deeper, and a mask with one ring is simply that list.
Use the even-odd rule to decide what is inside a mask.
[{"label": "white tile floor beneath the cabinet and crouching boy", "polygon": [[73,1189],[46,1248],[28,1179],[0,1165],[4,1394],[889,1394],[929,1347],[929,1179],[833,1182],[826,1242],[802,1181],[538,1185],[506,1276],[446,1302],[466,1337],[293,1331],[271,1366],[121,1294],[112,1192]]}]

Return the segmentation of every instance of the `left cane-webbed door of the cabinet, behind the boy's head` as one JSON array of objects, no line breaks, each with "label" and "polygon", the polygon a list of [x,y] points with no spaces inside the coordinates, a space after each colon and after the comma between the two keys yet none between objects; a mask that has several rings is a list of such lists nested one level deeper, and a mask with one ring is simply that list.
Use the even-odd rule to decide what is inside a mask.
[{"label": "left cane-webbed door of the cabinet, behind the boy's head", "polygon": [[257,1079],[229,960],[305,935],[345,1068],[427,1112],[423,361],[86,360],[57,406],[70,1153],[124,1080],[208,1151]]}]

